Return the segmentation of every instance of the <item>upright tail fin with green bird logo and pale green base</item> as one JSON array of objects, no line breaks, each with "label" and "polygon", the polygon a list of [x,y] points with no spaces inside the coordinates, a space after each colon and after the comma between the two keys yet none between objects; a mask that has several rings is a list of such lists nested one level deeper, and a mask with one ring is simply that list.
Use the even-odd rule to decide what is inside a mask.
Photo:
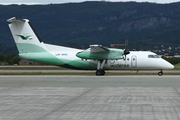
[{"label": "upright tail fin with green bird logo and pale green base", "polygon": [[19,53],[44,52],[46,47],[27,19],[7,20]]}]

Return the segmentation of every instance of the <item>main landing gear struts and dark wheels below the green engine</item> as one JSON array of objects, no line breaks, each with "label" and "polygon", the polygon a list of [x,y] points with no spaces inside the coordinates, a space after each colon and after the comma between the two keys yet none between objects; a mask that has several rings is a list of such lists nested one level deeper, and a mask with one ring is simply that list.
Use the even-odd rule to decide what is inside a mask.
[{"label": "main landing gear struts and dark wheels below the green engine", "polygon": [[97,71],[96,71],[97,76],[105,75],[106,72],[103,70],[105,62],[106,62],[106,60],[103,60],[102,63],[100,60],[98,60]]}]

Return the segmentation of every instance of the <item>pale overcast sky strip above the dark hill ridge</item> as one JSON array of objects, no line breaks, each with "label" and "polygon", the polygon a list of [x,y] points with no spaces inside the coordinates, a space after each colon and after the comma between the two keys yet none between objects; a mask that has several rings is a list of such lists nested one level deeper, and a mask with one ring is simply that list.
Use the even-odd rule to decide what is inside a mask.
[{"label": "pale overcast sky strip above the dark hill ridge", "polygon": [[[8,5],[8,4],[62,4],[62,3],[78,3],[84,1],[101,1],[101,0],[0,0],[0,4]],[[136,2],[153,2],[153,3],[173,3],[178,2],[180,0],[107,0],[110,2],[127,2],[127,1],[136,1]]]}]

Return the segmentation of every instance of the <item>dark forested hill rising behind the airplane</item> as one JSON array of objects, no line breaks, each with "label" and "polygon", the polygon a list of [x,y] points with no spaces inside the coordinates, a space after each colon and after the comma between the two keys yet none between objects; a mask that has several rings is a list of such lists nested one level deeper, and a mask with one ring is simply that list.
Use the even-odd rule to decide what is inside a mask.
[{"label": "dark forested hill rising behind the airplane", "polygon": [[180,45],[180,3],[0,5],[0,52],[16,50],[11,48],[15,44],[6,21],[11,17],[29,19],[43,42],[50,44],[85,48],[127,39],[129,48]]}]

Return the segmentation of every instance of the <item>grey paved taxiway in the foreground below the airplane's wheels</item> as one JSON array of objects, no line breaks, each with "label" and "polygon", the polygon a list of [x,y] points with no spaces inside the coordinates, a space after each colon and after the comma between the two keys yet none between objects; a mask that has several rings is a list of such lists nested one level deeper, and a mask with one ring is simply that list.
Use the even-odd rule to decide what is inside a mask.
[{"label": "grey paved taxiway in the foreground below the airplane's wheels", "polygon": [[180,76],[0,76],[0,120],[180,119]]}]

